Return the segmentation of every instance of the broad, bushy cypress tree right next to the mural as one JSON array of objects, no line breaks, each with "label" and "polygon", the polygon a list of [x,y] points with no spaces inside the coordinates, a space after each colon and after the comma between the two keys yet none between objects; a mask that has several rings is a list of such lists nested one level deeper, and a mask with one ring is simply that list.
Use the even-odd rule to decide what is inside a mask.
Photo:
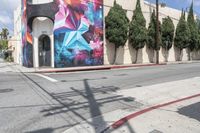
[{"label": "broad, bushy cypress tree right next to the mural", "polygon": [[128,39],[129,20],[126,11],[114,1],[114,6],[110,9],[105,18],[106,38],[115,45],[114,61],[116,60],[117,48],[124,46]]}]

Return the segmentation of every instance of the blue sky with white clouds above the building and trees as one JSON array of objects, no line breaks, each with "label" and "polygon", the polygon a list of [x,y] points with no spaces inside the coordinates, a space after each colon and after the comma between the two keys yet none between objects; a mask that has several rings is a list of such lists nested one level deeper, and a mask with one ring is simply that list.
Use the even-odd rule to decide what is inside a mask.
[{"label": "blue sky with white clouds above the building and trees", "polygon": [[[105,0],[106,1],[106,0]],[[155,3],[156,0],[146,0]],[[159,0],[166,3],[167,6],[176,9],[186,9],[190,6],[192,0]],[[13,33],[13,10],[20,4],[21,0],[0,0],[0,30],[7,27],[10,33]],[[126,2],[126,0],[124,0]],[[200,0],[194,0],[194,11],[200,16]]]}]

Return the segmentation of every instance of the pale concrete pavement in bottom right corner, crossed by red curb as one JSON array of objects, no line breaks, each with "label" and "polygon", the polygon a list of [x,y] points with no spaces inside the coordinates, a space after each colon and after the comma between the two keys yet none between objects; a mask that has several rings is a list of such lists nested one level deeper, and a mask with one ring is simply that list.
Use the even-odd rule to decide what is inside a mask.
[{"label": "pale concrete pavement in bottom right corner, crossed by red curb", "polygon": [[[143,107],[136,111],[113,110],[92,118],[96,122],[92,125],[83,121],[64,133],[200,132],[200,77],[119,90],[115,94],[132,97]],[[88,121],[92,123],[92,119]]]}]

